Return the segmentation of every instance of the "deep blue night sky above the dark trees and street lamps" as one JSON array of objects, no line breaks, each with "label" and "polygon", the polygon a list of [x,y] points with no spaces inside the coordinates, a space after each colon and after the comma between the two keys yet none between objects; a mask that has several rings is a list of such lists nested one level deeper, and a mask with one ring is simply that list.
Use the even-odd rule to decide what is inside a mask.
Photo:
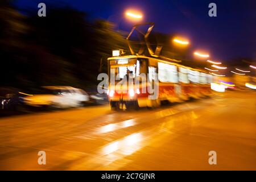
[{"label": "deep blue night sky above the dark trees and street lamps", "polygon": [[[121,30],[129,31],[132,24],[122,18],[129,8],[142,11],[145,22],[154,22],[155,30],[187,36],[195,49],[207,49],[213,60],[239,57],[256,59],[256,1],[255,0],[17,0],[20,9],[47,6],[71,6],[85,11],[91,19],[109,19]],[[58,2],[58,3],[56,3]],[[217,4],[217,17],[208,16],[210,2]],[[56,5],[57,4],[57,5]]]}]

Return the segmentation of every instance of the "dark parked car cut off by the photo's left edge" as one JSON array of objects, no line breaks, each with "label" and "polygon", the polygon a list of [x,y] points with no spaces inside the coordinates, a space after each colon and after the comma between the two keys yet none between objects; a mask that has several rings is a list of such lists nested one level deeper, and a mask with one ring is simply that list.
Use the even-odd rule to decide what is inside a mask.
[{"label": "dark parked car cut off by the photo's left edge", "polygon": [[0,112],[1,111],[18,111],[23,105],[23,97],[26,93],[20,92],[16,88],[0,88]]}]

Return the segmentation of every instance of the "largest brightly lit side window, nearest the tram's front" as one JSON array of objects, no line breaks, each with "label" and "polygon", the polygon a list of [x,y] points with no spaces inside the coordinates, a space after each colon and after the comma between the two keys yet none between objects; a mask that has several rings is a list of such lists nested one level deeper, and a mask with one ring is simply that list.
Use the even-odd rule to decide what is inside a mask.
[{"label": "largest brightly lit side window, nearest the tram's front", "polygon": [[158,63],[159,81],[178,82],[177,67],[171,64]]}]

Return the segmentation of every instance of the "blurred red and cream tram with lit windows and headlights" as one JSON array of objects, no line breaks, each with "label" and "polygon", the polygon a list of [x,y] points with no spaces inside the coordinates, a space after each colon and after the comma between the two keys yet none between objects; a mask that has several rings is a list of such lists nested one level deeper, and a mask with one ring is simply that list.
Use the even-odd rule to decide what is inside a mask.
[{"label": "blurred red and cream tram with lit windows and headlights", "polygon": [[[151,30],[152,24],[148,28],[148,31]],[[145,40],[147,44],[147,37]],[[131,52],[134,52],[130,45],[129,47]],[[113,56],[108,58],[109,77],[117,78],[114,83],[109,84],[108,88],[112,110],[129,107],[159,107],[164,102],[183,102],[190,98],[211,95],[210,83],[213,82],[213,75],[200,69],[187,67],[182,64],[182,61],[154,55],[149,46],[148,52],[151,52],[150,56],[139,53],[122,55],[122,51],[114,50]],[[133,79],[142,74],[147,75],[146,82],[139,80],[138,85],[127,84],[128,86],[121,90],[120,86],[117,86],[118,82],[126,79],[127,73]],[[149,96],[155,93],[152,89],[148,89],[148,85],[153,84],[155,84],[157,96],[152,99]]]}]

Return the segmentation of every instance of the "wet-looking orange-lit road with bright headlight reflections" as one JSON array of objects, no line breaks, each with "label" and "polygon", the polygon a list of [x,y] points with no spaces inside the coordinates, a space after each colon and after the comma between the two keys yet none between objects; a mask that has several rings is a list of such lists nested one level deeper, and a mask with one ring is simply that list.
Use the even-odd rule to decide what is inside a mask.
[{"label": "wet-looking orange-lit road with bright headlight reflections", "polygon": [[255,111],[256,93],[246,91],[152,110],[101,105],[0,118],[0,169],[256,170]]}]

